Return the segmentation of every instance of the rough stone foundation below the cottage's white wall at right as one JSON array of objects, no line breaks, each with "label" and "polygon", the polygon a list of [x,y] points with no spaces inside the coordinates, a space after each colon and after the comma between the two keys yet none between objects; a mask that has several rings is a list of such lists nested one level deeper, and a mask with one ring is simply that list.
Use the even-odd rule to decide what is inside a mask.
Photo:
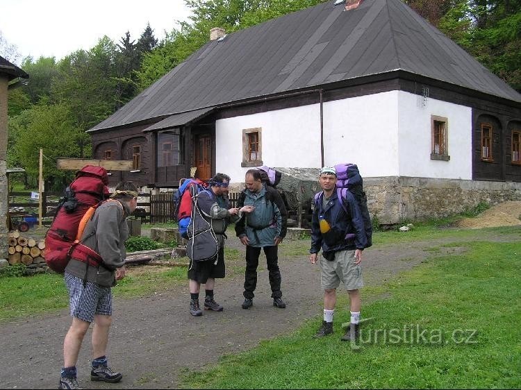
[{"label": "rough stone foundation below the cottage's white wall at right", "polygon": [[481,201],[521,201],[521,183],[483,180],[364,178],[367,207],[381,225],[447,217]]}]

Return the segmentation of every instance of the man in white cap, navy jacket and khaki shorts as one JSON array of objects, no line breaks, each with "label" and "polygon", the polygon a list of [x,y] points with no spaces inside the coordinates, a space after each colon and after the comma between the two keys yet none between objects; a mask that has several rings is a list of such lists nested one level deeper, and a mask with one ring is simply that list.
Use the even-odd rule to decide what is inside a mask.
[{"label": "man in white cap, navy jacket and khaki shorts", "polygon": [[[356,171],[358,172],[358,168]],[[354,194],[337,187],[335,168],[323,167],[318,181],[322,192],[315,196],[309,260],[311,264],[315,264],[317,254],[322,248],[320,284],[324,289],[324,320],[314,337],[324,337],[333,333],[336,289],[342,281],[349,294],[351,310],[349,328],[342,340],[354,341],[359,335],[359,289],[363,287],[362,251],[370,246],[367,239],[367,233],[370,237],[370,227],[366,228],[364,224],[361,207]]]}]

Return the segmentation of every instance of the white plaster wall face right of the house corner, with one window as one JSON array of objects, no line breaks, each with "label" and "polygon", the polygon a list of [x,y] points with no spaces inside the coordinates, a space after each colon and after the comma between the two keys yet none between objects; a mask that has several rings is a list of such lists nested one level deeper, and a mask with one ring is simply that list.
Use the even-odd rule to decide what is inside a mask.
[{"label": "white plaster wall face right of the house corner, with one window", "polygon": [[[398,94],[399,176],[472,180],[472,109]],[[431,160],[431,115],[447,118],[449,161]]]}]

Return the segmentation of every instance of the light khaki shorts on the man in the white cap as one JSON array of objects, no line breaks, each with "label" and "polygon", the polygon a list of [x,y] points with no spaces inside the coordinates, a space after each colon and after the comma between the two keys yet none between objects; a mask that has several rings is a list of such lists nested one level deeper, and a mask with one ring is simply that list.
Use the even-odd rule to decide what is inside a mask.
[{"label": "light khaki shorts on the man in the white cap", "polygon": [[342,281],[348,290],[363,287],[362,266],[354,264],[354,251],[339,251],[335,253],[335,260],[326,260],[320,257],[320,285],[322,289],[336,289]]}]

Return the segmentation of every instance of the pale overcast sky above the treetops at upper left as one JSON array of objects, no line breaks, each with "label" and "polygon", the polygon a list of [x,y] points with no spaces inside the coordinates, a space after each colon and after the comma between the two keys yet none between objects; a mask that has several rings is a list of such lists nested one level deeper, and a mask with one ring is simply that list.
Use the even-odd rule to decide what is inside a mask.
[{"label": "pale overcast sky above the treetops at upper left", "polygon": [[137,42],[147,23],[161,40],[189,16],[183,0],[0,0],[0,32],[17,46],[17,65],[26,56],[58,61],[91,49],[104,35],[119,43],[129,31]]}]

